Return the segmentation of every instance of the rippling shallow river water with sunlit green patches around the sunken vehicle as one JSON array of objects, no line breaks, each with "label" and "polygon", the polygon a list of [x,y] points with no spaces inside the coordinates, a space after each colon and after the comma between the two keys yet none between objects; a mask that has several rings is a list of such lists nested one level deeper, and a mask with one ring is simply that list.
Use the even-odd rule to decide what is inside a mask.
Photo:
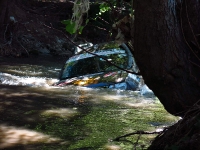
[{"label": "rippling shallow river water with sunlit green patches around the sunken vehicle", "polygon": [[51,86],[65,58],[0,62],[0,149],[145,149],[155,135],[112,139],[138,130],[160,131],[179,119],[156,97],[137,91]]}]

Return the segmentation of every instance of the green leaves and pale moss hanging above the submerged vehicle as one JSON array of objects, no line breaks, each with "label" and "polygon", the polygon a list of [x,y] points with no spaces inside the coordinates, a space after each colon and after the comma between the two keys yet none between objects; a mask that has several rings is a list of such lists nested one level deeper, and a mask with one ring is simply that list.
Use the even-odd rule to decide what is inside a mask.
[{"label": "green leaves and pale moss hanging above the submerged vehicle", "polygon": [[[77,1],[76,5],[77,7],[81,8],[82,4],[81,3],[79,4],[79,3],[80,1]],[[84,23],[80,21],[80,20],[83,20],[83,17],[82,17],[83,13],[74,8],[73,8],[73,11],[74,11],[73,16],[74,18],[79,18],[78,19],[79,21],[75,21],[74,19],[63,20],[62,23],[66,25],[65,29],[70,34],[75,34],[75,33],[81,34],[84,27],[88,24],[89,20],[94,20],[96,22],[96,23],[93,23],[93,26],[110,30],[111,27],[107,27],[107,26],[109,26],[109,24],[112,25],[113,21],[118,21],[119,19],[117,16],[114,16],[113,18],[111,17],[113,9],[116,9],[115,12],[119,13],[120,15],[127,15],[127,10],[129,11],[129,13],[133,13],[131,6],[132,5],[130,5],[130,3],[126,3],[126,2],[121,2],[119,6],[116,0],[110,0],[109,2],[98,1],[92,4],[90,3],[89,17],[87,16],[86,21],[83,21]],[[92,7],[94,7],[94,9]],[[81,10],[80,8],[79,10]],[[101,18],[101,19],[99,20],[98,18]],[[100,23],[99,21],[100,22],[102,21],[103,23]],[[107,26],[105,25],[105,22],[107,22]]]}]

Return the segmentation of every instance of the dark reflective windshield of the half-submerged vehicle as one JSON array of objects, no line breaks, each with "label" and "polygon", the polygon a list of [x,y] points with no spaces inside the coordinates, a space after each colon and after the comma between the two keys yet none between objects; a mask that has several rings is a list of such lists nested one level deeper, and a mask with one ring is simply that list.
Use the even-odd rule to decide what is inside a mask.
[{"label": "dark reflective windshield of the half-submerged vehicle", "polygon": [[124,69],[126,69],[128,65],[128,57],[126,53],[107,54],[101,57],[92,56],[66,63],[63,67],[61,79],[119,70],[106,60]]}]

